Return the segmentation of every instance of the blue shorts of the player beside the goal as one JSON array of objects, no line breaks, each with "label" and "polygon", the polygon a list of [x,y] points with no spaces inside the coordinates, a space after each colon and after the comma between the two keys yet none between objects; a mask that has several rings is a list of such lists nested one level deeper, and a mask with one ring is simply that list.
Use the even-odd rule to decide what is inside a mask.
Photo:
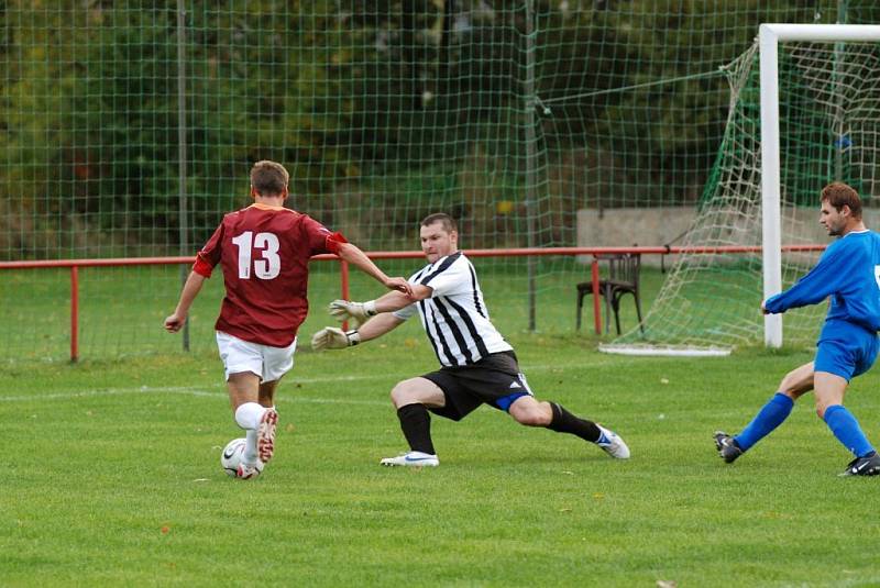
[{"label": "blue shorts of the player beside the goal", "polygon": [[846,321],[826,322],[818,337],[814,371],[827,371],[849,381],[877,359],[877,334]]}]

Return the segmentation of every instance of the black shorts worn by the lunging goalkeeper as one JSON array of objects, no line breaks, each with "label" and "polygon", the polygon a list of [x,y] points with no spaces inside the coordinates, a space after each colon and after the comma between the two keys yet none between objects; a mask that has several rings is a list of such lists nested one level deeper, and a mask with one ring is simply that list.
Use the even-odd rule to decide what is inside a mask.
[{"label": "black shorts worn by the lunging goalkeeper", "polygon": [[462,367],[442,367],[425,374],[443,390],[444,407],[428,410],[453,421],[460,421],[480,404],[507,411],[521,396],[534,396],[519,370],[514,352],[493,353],[477,363]]}]

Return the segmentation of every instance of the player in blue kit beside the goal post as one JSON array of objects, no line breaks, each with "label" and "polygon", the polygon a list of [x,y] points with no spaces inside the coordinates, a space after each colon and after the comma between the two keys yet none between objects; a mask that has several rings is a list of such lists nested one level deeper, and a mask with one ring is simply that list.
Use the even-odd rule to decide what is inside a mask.
[{"label": "player in blue kit beside the goal post", "polygon": [[782,378],[779,391],[738,435],[716,432],[715,446],[725,462],[734,462],[782,424],[794,401],[813,390],[820,419],[855,456],[842,476],[876,476],[880,455],[844,408],[844,395],[849,380],[870,369],[877,358],[880,234],[865,228],[859,195],[846,184],[826,186],[821,201],[820,223],[839,238],[798,284],[761,304],[765,314],[776,314],[831,297],[815,359]]}]

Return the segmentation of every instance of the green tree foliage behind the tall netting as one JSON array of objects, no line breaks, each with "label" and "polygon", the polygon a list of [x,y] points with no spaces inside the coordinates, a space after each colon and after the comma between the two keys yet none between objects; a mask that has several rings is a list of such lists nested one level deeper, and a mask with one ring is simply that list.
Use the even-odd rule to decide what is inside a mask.
[{"label": "green tree foliage behind the tall netting", "polygon": [[[175,251],[182,108],[189,244],[244,203],[260,158],[289,164],[292,191],[330,219],[340,189],[475,162],[520,200],[529,169],[552,182],[553,165],[584,149],[619,181],[571,206],[615,206],[634,185],[648,203],[693,202],[727,108],[712,74],[760,22],[837,18],[834,0],[185,4],[179,62],[174,0],[0,1],[6,255]],[[880,18],[869,0],[847,5],[850,22]],[[531,121],[537,164],[524,151]],[[88,243],[72,223],[91,228]]]}]

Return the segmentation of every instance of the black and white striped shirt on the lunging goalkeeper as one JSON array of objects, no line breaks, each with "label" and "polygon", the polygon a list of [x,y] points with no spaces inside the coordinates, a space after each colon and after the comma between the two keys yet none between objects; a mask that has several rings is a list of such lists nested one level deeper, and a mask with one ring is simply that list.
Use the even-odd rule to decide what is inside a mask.
[{"label": "black and white striped shirt on the lunging goalkeeper", "polygon": [[433,293],[394,315],[406,320],[419,313],[442,365],[471,365],[492,353],[513,350],[490,321],[474,266],[461,252],[428,264],[409,282],[429,286]]}]

